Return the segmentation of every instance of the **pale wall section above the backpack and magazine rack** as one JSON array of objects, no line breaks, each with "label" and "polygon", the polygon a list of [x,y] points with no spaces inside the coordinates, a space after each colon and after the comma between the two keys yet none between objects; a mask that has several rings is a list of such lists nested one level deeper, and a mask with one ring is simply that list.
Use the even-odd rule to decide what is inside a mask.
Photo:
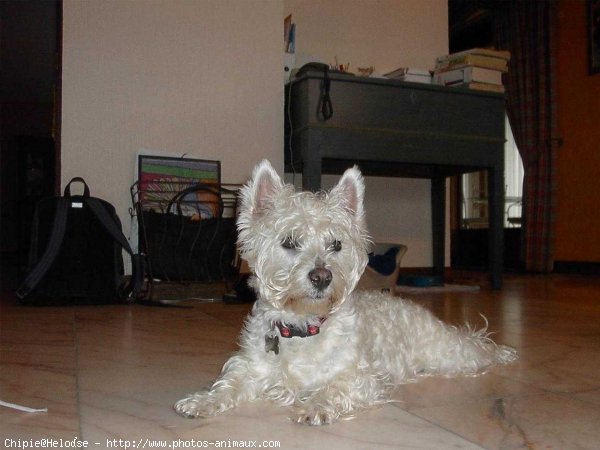
[{"label": "pale wall section above the backpack and magazine rack", "polygon": [[283,169],[280,1],[64,1],[62,184],[83,176],[129,223],[139,149]]}]

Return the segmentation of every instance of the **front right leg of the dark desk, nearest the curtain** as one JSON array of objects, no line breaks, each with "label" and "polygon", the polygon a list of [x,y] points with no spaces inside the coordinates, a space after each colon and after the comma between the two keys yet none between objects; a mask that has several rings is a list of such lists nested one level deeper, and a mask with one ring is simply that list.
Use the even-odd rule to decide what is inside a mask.
[{"label": "front right leg of the dark desk, nearest the curtain", "polygon": [[504,166],[488,170],[489,192],[489,253],[492,289],[502,288],[504,265]]}]

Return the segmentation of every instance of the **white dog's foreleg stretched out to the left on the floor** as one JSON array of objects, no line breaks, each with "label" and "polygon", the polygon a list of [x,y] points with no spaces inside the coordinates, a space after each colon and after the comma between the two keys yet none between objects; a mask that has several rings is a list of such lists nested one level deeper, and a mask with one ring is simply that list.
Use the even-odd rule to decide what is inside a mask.
[{"label": "white dog's foreleg stretched out to the left on the floor", "polygon": [[253,400],[255,396],[248,380],[248,361],[235,355],[225,363],[221,375],[209,389],[182,398],[174,408],[185,417],[212,417]]}]

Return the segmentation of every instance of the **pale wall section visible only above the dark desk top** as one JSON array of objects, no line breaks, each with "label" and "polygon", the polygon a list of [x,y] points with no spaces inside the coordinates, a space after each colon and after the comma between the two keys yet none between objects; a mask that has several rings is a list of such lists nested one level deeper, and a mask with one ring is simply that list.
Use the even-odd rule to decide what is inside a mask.
[{"label": "pale wall section visible only above the dark desk top", "polygon": [[296,54],[323,62],[432,69],[448,51],[447,0],[283,0],[296,23]]}]

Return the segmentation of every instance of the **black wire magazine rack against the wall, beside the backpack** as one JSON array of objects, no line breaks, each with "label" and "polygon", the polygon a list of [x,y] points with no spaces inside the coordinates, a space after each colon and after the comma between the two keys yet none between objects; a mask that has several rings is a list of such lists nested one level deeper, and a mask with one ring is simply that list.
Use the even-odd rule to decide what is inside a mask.
[{"label": "black wire magazine rack against the wall, beside the backpack", "polygon": [[151,280],[227,281],[236,277],[240,185],[141,181],[131,186],[138,244]]}]

